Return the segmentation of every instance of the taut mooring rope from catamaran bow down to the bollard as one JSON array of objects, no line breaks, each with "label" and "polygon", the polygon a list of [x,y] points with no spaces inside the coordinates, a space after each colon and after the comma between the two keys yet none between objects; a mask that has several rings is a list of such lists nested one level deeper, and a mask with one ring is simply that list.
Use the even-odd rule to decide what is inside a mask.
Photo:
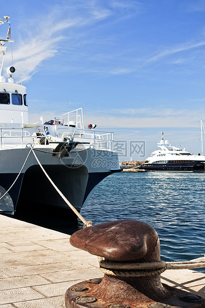
[{"label": "taut mooring rope from catamaran bow down to the bollard", "polygon": [[56,186],[56,184],[52,181],[52,179],[50,178],[50,176],[48,175],[48,173],[46,172],[46,170],[44,169],[44,167],[42,166],[42,164],[40,163],[38,157],[36,156],[36,154],[34,153],[34,150],[32,148],[32,146],[30,145],[31,151],[33,152],[39,166],[41,167],[41,169],[43,170],[44,174],[46,175],[46,177],[48,178],[48,180],[51,182],[51,184],[53,185],[53,187],[56,189],[56,191],[59,193],[59,195],[63,198],[63,200],[66,202],[66,204],[68,204],[68,206],[70,207],[70,209],[77,215],[77,217],[83,222],[84,226],[83,228],[86,227],[90,227],[92,226],[92,222],[90,221],[86,221],[82,215],[80,215],[80,213],[71,205],[71,203],[68,201],[68,199],[64,196],[64,194],[60,191],[60,189]]}]

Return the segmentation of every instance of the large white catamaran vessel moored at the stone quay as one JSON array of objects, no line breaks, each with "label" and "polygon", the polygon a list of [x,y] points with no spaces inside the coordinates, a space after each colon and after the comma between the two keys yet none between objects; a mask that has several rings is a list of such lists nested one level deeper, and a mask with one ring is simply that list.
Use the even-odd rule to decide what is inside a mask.
[{"label": "large white catamaran vessel moored at the stone quay", "polygon": [[15,82],[15,68],[7,68],[8,80],[1,74],[5,45],[14,42],[9,31],[0,39],[0,213],[13,215],[23,202],[30,212],[35,204],[68,208],[40,165],[79,211],[102,179],[121,171],[113,133],[84,128],[81,108],[30,124],[26,87]]}]

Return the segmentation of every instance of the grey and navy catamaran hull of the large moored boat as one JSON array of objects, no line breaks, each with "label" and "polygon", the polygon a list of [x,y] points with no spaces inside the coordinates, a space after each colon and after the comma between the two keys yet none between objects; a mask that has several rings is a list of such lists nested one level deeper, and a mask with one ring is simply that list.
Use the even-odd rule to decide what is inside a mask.
[{"label": "grey and navy catamaran hull of the large moored boat", "polygon": [[[119,161],[117,154],[111,151],[87,149],[73,151],[69,156],[58,158],[53,153],[48,153],[48,149],[47,153],[42,149],[41,152],[36,150],[35,153],[46,173],[77,211],[87,203],[92,190],[101,180],[121,170],[116,164],[116,161]],[[28,152],[29,149],[26,148],[0,151],[0,196],[11,187],[19,175],[12,188],[0,200],[1,213],[12,215],[16,210],[20,210],[22,205],[24,211],[30,212],[35,210],[31,208],[31,203],[45,205],[47,208],[68,209],[68,204],[53,187],[32,153],[20,174],[8,172],[20,170]],[[94,158],[98,157],[99,162],[100,156],[103,157],[104,163],[96,165]],[[81,163],[77,164],[76,161]]]}]

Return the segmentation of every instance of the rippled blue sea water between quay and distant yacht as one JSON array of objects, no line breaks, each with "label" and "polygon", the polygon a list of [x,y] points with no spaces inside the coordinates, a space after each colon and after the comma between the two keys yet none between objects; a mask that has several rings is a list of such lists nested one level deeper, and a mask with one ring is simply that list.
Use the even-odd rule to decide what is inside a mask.
[{"label": "rippled blue sea water between quay and distant yacht", "polygon": [[120,172],[95,188],[80,214],[93,225],[145,222],[159,235],[162,260],[186,261],[205,254],[204,194],[205,173]]}]

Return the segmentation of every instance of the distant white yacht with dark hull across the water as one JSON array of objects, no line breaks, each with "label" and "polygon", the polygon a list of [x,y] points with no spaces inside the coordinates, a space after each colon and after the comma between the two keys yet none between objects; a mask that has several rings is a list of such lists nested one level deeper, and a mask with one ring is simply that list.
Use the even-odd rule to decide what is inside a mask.
[{"label": "distant white yacht with dark hull across the water", "polygon": [[157,147],[159,150],[152,152],[141,164],[140,169],[147,171],[183,171],[183,172],[205,172],[205,156],[194,155],[169,144],[164,140],[164,133]]}]

